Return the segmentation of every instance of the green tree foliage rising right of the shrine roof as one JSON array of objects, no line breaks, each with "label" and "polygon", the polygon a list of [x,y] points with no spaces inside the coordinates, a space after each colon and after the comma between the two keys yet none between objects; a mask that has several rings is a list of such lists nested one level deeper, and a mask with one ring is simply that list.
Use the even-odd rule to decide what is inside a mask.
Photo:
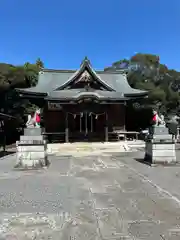
[{"label": "green tree foliage rising right of the shrine roof", "polygon": [[142,53],[137,53],[130,59],[116,61],[105,70],[118,71],[122,62],[129,63],[129,84],[133,88],[149,91],[147,105],[166,112],[180,110],[180,72],[168,69],[165,64],[160,63],[158,55]]}]

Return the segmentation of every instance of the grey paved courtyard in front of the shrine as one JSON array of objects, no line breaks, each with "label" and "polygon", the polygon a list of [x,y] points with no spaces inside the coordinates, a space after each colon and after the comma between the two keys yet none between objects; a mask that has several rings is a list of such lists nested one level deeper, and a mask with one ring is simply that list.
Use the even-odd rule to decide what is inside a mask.
[{"label": "grey paved courtyard in front of the shrine", "polygon": [[55,154],[39,171],[0,159],[0,239],[179,240],[180,167],[142,156]]}]

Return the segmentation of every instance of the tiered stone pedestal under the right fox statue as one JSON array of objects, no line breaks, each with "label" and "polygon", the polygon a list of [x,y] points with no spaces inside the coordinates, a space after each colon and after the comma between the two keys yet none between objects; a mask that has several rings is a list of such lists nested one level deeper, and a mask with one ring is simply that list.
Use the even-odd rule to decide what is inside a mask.
[{"label": "tiered stone pedestal under the right fox statue", "polygon": [[153,135],[146,140],[145,161],[152,165],[176,164],[175,142],[169,129],[165,126],[156,126],[153,129]]}]

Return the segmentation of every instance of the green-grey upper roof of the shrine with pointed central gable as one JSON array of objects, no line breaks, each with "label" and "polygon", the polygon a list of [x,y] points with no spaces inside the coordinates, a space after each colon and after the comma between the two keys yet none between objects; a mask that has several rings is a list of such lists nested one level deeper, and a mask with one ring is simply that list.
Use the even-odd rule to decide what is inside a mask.
[{"label": "green-grey upper roof of the shrine with pointed central gable", "polygon": [[[131,88],[127,81],[126,74],[122,72],[95,71],[87,58],[83,60],[80,69],[76,71],[43,69],[43,71],[39,73],[36,87],[17,90],[22,94],[26,93],[49,97],[55,96],[55,94],[57,94],[55,91],[58,91],[60,98],[64,95],[64,91],[67,91],[65,88],[80,77],[84,71],[88,71],[94,80],[103,85],[106,89],[104,92],[108,92],[107,94],[109,94],[109,96],[113,97],[114,93],[117,93],[116,96],[119,95],[121,97],[122,94],[124,97],[143,97],[147,95],[147,91]],[[75,94],[73,90],[69,91],[70,95]],[[103,94],[101,93],[101,95]]]}]

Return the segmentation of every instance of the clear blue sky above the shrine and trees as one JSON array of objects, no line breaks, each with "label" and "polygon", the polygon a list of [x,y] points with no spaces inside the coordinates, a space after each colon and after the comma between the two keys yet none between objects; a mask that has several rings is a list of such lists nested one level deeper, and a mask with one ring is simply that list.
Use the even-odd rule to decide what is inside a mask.
[{"label": "clear blue sky above the shrine and trees", "polygon": [[180,0],[0,0],[0,62],[96,69],[135,52],[180,70]]}]

